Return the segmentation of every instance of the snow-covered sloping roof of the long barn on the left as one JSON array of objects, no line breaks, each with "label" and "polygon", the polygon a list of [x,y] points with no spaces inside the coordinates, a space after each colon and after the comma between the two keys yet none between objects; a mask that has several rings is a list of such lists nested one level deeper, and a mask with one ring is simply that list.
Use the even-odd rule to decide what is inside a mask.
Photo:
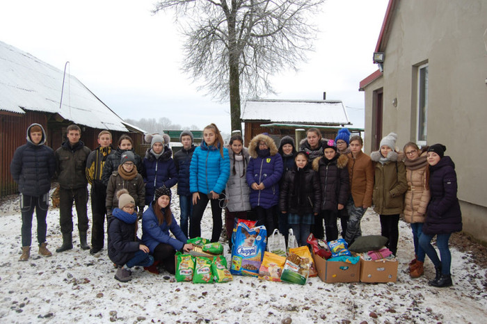
[{"label": "snow-covered sloping roof of the long barn on the left", "polygon": [[0,111],[58,113],[66,120],[96,129],[128,131],[123,120],[76,77],[31,54],[0,42]]}]

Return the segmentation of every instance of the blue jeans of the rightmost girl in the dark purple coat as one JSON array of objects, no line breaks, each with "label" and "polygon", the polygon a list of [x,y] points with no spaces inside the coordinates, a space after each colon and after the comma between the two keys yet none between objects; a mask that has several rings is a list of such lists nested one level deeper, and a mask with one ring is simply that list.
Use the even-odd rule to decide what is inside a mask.
[{"label": "blue jeans of the rightmost girl in the dark purple coat", "polygon": [[[438,259],[438,254],[435,248],[431,245],[431,240],[436,235],[436,246],[440,250],[441,261]],[[428,254],[429,259],[435,265],[435,268],[441,266],[442,275],[450,275],[450,266],[452,266],[452,254],[448,248],[448,241],[452,233],[447,234],[424,234],[420,236],[420,245],[424,252]]]}]

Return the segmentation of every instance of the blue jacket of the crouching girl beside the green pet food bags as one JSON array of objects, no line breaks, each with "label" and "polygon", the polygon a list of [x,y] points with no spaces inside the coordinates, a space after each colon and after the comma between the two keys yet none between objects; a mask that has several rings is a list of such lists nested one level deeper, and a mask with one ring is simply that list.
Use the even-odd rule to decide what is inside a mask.
[{"label": "blue jacket of the crouching girl beside the green pet food bags", "polygon": [[[169,231],[175,238],[169,235]],[[154,253],[154,249],[161,243],[170,244],[176,251],[179,251],[182,250],[186,241],[188,239],[177,225],[174,215],[170,225],[166,223],[166,220],[159,225],[159,220],[154,213],[154,204],[150,204],[142,216],[142,242],[147,245],[150,252]]]}]

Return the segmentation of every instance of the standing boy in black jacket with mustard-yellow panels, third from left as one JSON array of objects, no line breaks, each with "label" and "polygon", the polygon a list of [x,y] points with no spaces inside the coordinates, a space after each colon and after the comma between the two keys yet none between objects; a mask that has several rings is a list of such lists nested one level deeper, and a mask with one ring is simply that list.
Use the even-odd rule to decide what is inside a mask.
[{"label": "standing boy in black jacket with mustard-yellow panels, third from left", "polygon": [[113,149],[111,147],[111,133],[109,131],[100,131],[98,144],[99,147],[88,155],[88,160],[86,161],[86,178],[91,185],[91,213],[93,221],[91,227],[91,254],[102,250],[104,245],[106,186],[102,182],[102,173],[106,158]]}]

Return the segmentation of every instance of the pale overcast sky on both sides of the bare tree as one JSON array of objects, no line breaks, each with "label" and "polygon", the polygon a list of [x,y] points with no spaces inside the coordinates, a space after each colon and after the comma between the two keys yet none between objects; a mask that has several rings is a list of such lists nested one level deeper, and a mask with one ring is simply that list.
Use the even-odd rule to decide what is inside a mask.
[{"label": "pale overcast sky on both sides of the bare tree", "polygon": [[[0,1],[0,40],[76,76],[121,118],[167,117],[230,132],[227,102],[214,102],[182,74],[182,38],[173,15],[151,15],[154,0]],[[372,63],[388,0],[328,0],[314,19],[316,51],[299,71],[273,79],[278,99],[341,99],[363,126],[358,83]],[[61,91],[61,89],[60,89]],[[243,105],[242,105],[243,107]]]}]

